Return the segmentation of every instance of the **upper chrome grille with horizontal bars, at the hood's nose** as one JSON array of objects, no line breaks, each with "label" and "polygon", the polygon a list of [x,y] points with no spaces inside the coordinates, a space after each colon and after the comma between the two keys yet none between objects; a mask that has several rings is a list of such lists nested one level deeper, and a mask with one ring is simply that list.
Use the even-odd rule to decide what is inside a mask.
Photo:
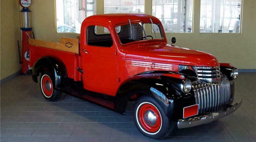
[{"label": "upper chrome grille with horizontal bars, at the hood's nose", "polygon": [[196,75],[200,80],[220,82],[220,67],[196,67]]}]

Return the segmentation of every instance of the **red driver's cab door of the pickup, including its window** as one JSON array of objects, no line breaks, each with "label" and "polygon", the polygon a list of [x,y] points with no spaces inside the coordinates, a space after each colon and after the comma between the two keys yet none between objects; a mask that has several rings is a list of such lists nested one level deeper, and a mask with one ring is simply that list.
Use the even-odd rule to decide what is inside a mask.
[{"label": "red driver's cab door of the pickup, including its window", "polygon": [[85,43],[81,44],[84,88],[115,95],[119,86],[116,45],[107,26],[85,25]]}]

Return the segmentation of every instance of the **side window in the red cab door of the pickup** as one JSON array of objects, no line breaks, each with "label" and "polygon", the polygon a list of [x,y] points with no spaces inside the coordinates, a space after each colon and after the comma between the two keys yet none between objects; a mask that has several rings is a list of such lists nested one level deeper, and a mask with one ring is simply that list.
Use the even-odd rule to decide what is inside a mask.
[{"label": "side window in the red cab door of the pickup", "polygon": [[112,47],[113,46],[113,40],[111,35],[108,32],[104,32],[108,28],[104,26],[88,26],[86,37],[87,37],[87,45],[92,46],[101,46],[101,47]]}]

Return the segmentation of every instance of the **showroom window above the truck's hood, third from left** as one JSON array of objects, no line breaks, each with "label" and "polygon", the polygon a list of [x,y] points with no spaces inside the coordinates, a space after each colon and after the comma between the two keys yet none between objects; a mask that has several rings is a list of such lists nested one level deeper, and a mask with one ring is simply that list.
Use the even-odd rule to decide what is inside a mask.
[{"label": "showroom window above the truck's hood, third from left", "polygon": [[152,0],[152,15],[162,22],[166,33],[191,33],[193,0]]}]

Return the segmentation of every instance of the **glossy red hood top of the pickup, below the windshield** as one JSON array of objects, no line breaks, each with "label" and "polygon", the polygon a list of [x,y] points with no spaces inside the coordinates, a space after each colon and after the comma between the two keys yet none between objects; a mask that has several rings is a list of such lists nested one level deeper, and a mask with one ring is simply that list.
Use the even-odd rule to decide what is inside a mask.
[{"label": "glossy red hood top of the pickup, below the windshield", "polygon": [[140,45],[126,52],[126,59],[190,66],[219,66],[211,54],[171,45]]}]

